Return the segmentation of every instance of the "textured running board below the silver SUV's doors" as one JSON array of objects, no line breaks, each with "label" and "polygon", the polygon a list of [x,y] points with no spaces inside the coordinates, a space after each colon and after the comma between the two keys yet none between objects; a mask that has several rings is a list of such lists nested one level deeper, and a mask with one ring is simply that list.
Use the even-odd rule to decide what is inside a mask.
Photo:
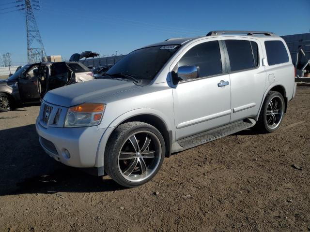
[{"label": "textured running board below the silver SUV's doors", "polygon": [[172,145],[172,152],[186,150],[188,148],[211,142],[213,140],[225,137],[238,131],[243,131],[245,129],[253,127],[255,123],[256,122],[254,119],[247,118],[242,121],[237,121],[211,131],[202,132],[200,134],[181,139],[179,141],[176,141],[176,143]]}]

